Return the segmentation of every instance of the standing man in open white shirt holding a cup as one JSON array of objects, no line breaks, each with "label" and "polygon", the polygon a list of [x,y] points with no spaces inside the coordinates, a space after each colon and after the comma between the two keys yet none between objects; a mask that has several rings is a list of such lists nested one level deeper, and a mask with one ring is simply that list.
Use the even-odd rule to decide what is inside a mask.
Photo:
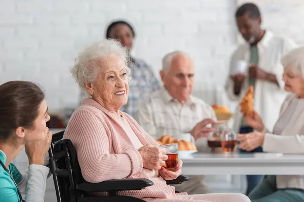
[{"label": "standing man in open white shirt holding a cup", "polygon": [[[225,88],[232,100],[240,102],[249,86],[254,86],[254,109],[263,118],[265,126],[272,130],[287,95],[282,80],[284,68],[280,60],[296,45],[289,39],[277,37],[271,31],[261,29],[260,12],[254,4],[240,6],[236,12],[236,21],[246,42],[232,55],[230,76]],[[248,62],[248,71],[235,74],[233,72],[240,60]],[[236,109],[234,130],[239,133],[253,131],[244,122],[239,108]],[[262,148],[258,147],[249,152],[261,151]],[[262,176],[247,176],[247,194],[261,178]]]}]

